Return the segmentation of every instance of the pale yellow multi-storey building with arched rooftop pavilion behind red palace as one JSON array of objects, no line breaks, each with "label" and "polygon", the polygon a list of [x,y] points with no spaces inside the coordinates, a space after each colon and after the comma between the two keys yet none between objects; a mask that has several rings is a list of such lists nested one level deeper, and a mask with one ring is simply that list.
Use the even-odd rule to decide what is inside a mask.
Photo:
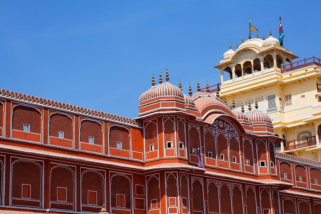
[{"label": "pale yellow multi-storey building with arched rooftop pavilion behind red palace", "polygon": [[[257,34],[256,34],[257,35]],[[298,58],[272,37],[243,41],[223,55],[219,94],[230,109],[249,112],[255,102],[272,119],[274,132],[284,138],[276,150],[321,160],[320,58]],[[215,93],[215,90],[212,90]],[[242,107],[243,104],[243,107]]]}]

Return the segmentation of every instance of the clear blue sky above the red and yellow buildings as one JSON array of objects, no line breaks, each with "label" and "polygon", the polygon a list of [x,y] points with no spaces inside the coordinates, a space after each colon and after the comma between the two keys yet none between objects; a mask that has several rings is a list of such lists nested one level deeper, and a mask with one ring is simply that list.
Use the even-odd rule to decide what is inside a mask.
[{"label": "clear blue sky above the red and yellow buildings", "polygon": [[[220,81],[248,19],[301,58],[321,57],[321,1],[0,1],[0,88],[134,118],[152,73]],[[252,32],[252,38],[255,32]],[[163,76],[164,77],[164,76]],[[164,79],[164,78],[163,78]]]}]

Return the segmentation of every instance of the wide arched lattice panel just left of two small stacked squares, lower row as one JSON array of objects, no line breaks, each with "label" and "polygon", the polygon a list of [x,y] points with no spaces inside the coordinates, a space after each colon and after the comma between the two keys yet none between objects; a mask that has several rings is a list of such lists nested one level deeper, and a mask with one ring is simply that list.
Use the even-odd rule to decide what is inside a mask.
[{"label": "wide arched lattice panel just left of two small stacked squares, lower row", "polygon": [[[121,185],[120,185],[121,184]],[[113,175],[110,179],[111,207],[131,209],[132,202],[131,180],[122,174]]]}]

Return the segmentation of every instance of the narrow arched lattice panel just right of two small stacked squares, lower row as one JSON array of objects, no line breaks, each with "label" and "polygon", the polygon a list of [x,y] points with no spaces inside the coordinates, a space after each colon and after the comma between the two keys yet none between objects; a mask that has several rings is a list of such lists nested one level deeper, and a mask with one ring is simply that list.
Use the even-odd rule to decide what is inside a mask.
[{"label": "narrow arched lattice panel just right of two small stacked squares, lower row", "polygon": [[160,184],[155,176],[147,181],[147,199],[149,210],[160,208]]}]

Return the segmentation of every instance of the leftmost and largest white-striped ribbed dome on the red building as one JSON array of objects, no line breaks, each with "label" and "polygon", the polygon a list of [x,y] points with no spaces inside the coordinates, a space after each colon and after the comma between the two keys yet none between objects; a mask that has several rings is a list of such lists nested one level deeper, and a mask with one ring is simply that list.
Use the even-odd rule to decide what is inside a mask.
[{"label": "leftmost and largest white-striped ribbed dome on the red building", "polygon": [[146,100],[150,100],[155,97],[162,96],[177,96],[180,98],[184,98],[183,92],[177,86],[172,85],[169,82],[165,82],[158,85],[154,85],[150,89],[145,91],[139,97],[139,103]]}]

